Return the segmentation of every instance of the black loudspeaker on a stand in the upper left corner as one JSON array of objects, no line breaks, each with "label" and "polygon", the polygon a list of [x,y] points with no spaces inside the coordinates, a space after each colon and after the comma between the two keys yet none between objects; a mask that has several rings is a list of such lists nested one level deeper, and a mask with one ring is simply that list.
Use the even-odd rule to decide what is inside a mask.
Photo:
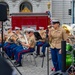
[{"label": "black loudspeaker on a stand in the upper left corner", "polygon": [[0,4],[0,21],[7,20],[7,7],[4,4]]}]

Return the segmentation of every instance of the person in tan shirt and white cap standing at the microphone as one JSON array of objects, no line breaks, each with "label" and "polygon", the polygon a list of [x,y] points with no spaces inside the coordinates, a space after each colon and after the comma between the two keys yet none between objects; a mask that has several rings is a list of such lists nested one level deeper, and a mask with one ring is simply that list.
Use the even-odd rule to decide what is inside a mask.
[{"label": "person in tan shirt and white cap standing at the microphone", "polygon": [[60,26],[58,20],[53,20],[53,29],[49,32],[49,42],[53,66],[55,71],[62,69],[61,60],[61,41],[67,41],[66,31]]}]

